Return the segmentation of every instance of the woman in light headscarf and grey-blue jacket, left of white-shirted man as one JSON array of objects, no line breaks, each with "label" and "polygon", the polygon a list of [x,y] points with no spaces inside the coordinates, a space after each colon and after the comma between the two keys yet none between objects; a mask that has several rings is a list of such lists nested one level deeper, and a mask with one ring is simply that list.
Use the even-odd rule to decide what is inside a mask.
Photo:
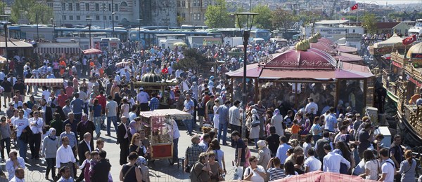
[{"label": "woman in light headscarf and grey-blue jacket, left of white-shirted man", "polygon": [[56,137],[56,129],[53,127],[49,130],[49,135],[44,137],[42,143],[42,156],[46,159],[47,169],[46,169],[46,179],[49,179],[49,174],[51,170],[51,179],[56,177],[56,151],[60,147],[59,139]]}]

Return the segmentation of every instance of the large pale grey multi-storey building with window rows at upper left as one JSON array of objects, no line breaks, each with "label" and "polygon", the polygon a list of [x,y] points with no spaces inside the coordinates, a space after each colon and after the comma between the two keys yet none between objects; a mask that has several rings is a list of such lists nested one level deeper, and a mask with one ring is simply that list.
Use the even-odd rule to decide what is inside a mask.
[{"label": "large pale grey multi-storey building with window rows at upper left", "polygon": [[[52,0],[56,25],[175,26],[176,3],[173,0]],[[114,15],[113,15],[114,13]],[[139,20],[141,19],[141,20]]]}]

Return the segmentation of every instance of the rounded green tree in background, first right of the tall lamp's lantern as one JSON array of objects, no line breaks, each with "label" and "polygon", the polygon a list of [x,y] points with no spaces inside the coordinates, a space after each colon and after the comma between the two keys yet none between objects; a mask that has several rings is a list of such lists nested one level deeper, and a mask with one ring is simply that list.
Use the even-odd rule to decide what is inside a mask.
[{"label": "rounded green tree in background, first right of the tall lamp's lantern", "polygon": [[286,31],[293,27],[298,20],[298,16],[294,16],[292,13],[283,10],[283,8],[277,8],[271,14],[271,23],[274,29],[284,29]]}]

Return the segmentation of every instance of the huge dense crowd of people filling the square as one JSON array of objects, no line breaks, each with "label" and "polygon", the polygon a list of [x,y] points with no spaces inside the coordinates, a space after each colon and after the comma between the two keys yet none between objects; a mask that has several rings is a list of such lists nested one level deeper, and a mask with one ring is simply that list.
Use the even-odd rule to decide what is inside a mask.
[{"label": "huge dense crowd of people filling the square", "polygon": [[[303,96],[298,99],[299,106],[289,97],[291,85],[271,85],[264,90],[269,98],[248,102],[243,111],[238,86],[241,83],[231,83],[224,73],[239,69],[245,60],[230,56],[230,47],[196,48],[225,62],[210,70],[215,73],[210,77],[205,76],[209,73],[173,69],[179,59],[184,59],[184,48],[154,46],[136,52],[129,42],[121,47],[93,58],[44,55],[42,62],[22,64],[22,69],[8,64],[4,70],[9,72],[0,72],[6,108],[0,125],[1,160],[6,162],[9,180],[23,178],[21,173],[28,160],[45,160],[46,179],[51,174],[51,179],[58,181],[149,181],[151,141],[146,137],[140,112],[169,108],[193,116],[182,122],[174,120],[172,125],[173,162],[179,160],[178,125],[184,125],[186,133],[193,135],[183,164],[193,181],[231,179],[225,176],[229,160],[238,167],[234,178],[248,181],[274,181],[317,170],[383,181],[414,178],[416,161],[411,151],[403,150],[402,138],[395,136],[389,151],[382,148],[383,135],[374,134],[376,126],[370,118],[361,118],[361,113],[356,112],[362,108],[350,97],[359,97],[359,86],[354,83],[342,85],[349,90],[340,106],[328,102],[334,100],[331,85],[298,86]],[[275,51],[274,43],[252,45],[247,62],[258,62]],[[23,61],[19,56],[15,59]],[[116,66],[122,59],[130,59],[131,63]],[[163,79],[176,78],[179,85],[163,92],[135,88],[134,82],[151,71]],[[64,81],[63,87],[37,87],[26,86],[25,78]],[[29,100],[25,100],[27,96]],[[243,112],[246,127],[242,127]],[[110,130],[112,123],[115,133]],[[194,135],[193,130],[203,134]],[[122,165],[119,179],[110,175],[102,132],[117,136]],[[11,151],[12,145],[18,153]],[[220,145],[231,146],[234,151],[223,151]],[[257,156],[251,155],[254,147]],[[224,159],[224,153],[229,152],[236,157]]]}]

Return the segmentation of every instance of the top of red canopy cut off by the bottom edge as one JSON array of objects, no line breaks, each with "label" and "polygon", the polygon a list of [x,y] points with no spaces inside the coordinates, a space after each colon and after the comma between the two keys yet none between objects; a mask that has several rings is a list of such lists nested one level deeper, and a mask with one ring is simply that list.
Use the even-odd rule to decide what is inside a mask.
[{"label": "top of red canopy cut off by the bottom edge", "polygon": [[347,182],[371,182],[373,180],[362,179],[360,176],[352,176],[348,174],[337,174],[332,172],[309,172],[305,174],[291,176],[290,178],[279,179],[276,181],[291,182],[311,182],[311,181],[347,181]]}]

